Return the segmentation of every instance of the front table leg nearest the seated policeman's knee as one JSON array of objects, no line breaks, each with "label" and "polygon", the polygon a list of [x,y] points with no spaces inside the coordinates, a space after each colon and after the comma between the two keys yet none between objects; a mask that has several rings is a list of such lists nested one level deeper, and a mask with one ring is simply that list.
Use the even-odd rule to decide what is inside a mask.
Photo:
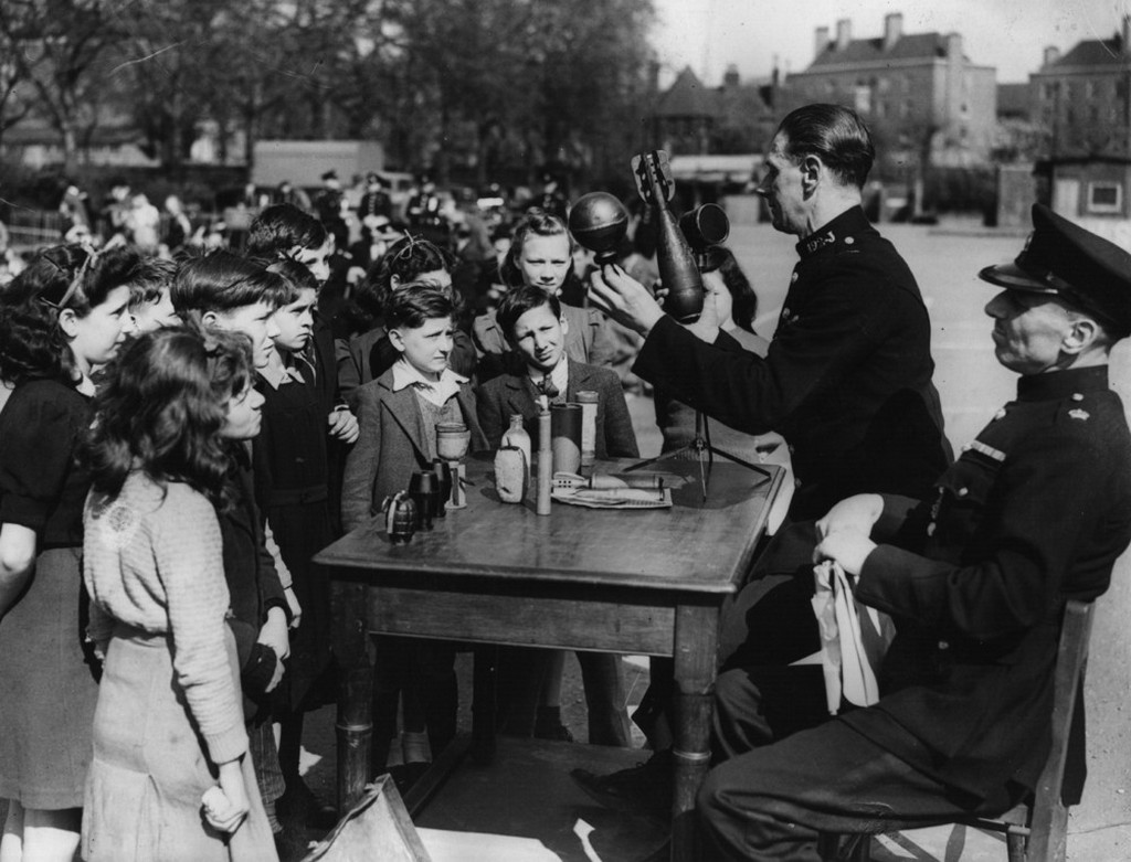
[{"label": "front table leg nearest the seated policeman's knee", "polygon": [[696,794],[710,768],[718,609],[675,610],[675,747],[672,799],[672,860],[699,857]]}]

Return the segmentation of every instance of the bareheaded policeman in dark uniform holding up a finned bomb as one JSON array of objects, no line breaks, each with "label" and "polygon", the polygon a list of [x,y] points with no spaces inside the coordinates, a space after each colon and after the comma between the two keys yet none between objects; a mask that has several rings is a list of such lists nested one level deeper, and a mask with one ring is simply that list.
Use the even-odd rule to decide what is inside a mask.
[{"label": "bareheaded policeman in dark uniform holding up a finned bomb", "polygon": [[[778,432],[791,445],[798,487],[789,516],[796,523],[778,533],[754,583],[725,615],[724,667],[767,650],[789,664],[819,648],[815,624],[776,625],[792,619],[784,608],[809,608],[812,578],[794,585],[794,573],[798,566],[808,572],[812,555],[806,519],[862,491],[921,496],[951,461],[932,383],[926,307],[907,264],[861,207],[874,157],[867,127],[839,105],[797,108],[778,127],[758,193],[774,227],[800,237],[801,260],[765,358],[720,332],[711,305],[697,323],[681,326],[621,270],[604,268],[590,287],[595,305],[645,336],[637,375],[732,428]],[[763,598],[771,590],[769,604]],[[772,608],[765,619],[749,612],[759,602]],[[810,673],[819,678],[812,668],[797,671]],[[654,716],[666,711],[670,696],[670,674],[654,661],[653,685],[633,717],[657,748],[665,746]],[[795,711],[798,726],[821,717],[819,700],[817,707],[813,716]],[[644,772],[577,770],[575,780],[604,804],[654,812],[666,806],[667,789],[653,766],[667,769],[654,757]]]}]

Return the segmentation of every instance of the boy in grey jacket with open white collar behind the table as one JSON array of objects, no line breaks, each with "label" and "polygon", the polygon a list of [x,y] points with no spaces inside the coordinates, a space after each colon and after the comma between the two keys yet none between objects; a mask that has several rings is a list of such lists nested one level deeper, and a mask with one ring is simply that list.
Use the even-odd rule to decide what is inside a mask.
[{"label": "boy in grey jacket with open white collar behind the table", "polygon": [[[392,367],[357,390],[361,435],[346,460],[342,493],[345,529],[369,523],[381,503],[408,487],[437,458],[438,423],[463,423],[470,451],[486,449],[467,377],[451,371],[452,305],[429,285],[396,291],[386,307],[389,340],[400,355]],[[424,707],[432,752],[456,734],[455,651],[439,642],[389,638],[374,678],[373,763],[382,769],[396,732],[397,693],[407,685]],[[421,728],[407,728],[414,732]]]}]

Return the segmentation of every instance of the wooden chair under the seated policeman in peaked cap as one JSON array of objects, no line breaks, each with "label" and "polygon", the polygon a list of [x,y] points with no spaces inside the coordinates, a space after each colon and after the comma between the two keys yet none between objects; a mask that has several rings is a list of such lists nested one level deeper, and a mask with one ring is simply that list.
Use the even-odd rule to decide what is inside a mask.
[{"label": "wooden chair under the seated policeman in peaked cap", "polygon": [[[1061,798],[1069,735],[1076,712],[1077,691],[1088,661],[1093,603],[1069,600],[1064,608],[1053,689],[1052,748],[1031,799],[996,818],[970,817],[953,822],[1005,834],[1009,862],[1064,862],[1068,843],[1068,807]],[[830,859],[869,862],[869,836],[823,836],[823,852]],[[857,839],[858,841],[854,841]],[[839,844],[839,851],[835,851]]]}]

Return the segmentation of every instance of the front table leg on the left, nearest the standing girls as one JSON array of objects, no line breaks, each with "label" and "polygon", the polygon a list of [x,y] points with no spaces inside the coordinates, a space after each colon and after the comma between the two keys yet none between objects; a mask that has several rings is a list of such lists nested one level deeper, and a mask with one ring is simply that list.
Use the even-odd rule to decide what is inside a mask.
[{"label": "front table leg on the left, nearest the standing girls", "polygon": [[373,646],[363,584],[331,582],[334,654],[338,665],[338,815],[362,798],[373,741]]}]

